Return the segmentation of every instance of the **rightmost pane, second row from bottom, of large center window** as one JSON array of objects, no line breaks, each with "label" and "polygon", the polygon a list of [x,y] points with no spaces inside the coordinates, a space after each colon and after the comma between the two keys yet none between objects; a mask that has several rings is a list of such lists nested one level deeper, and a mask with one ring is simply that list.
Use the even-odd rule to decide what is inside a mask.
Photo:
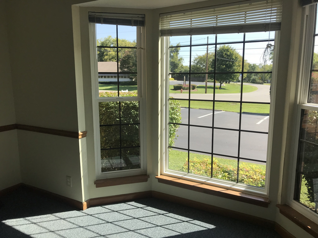
[{"label": "rightmost pane, second row from bottom, of large center window", "polygon": [[267,134],[241,132],[240,157],[266,161]]}]

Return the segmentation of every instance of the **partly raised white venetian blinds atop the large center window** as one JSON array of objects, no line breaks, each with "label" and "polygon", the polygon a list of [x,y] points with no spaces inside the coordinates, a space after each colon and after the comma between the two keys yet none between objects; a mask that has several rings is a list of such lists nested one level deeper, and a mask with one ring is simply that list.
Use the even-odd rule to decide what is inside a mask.
[{"label": "partly raised white venetian blinds atop the large center window", "polygon": [[280,30],[282,0],[251,2],[160,15],[160,36]]}]

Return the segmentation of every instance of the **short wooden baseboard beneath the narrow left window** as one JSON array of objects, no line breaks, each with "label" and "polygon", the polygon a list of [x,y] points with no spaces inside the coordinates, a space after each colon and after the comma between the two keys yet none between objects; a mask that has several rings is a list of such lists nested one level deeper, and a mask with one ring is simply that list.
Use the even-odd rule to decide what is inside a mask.
[{"label": "short wooden baseboard beneath the narrow left window", "polygon": [[135,199],[151,198],[151,197],[152,197],[152,192],[145,191],[145,192],[122,194],[122,195],[115,195],[115,196],[102,197],[102,198],[91,198],[86,201],[87,203],[86,206],[87,208],[89,208],[91,206],[105,205],[110,203],[131,201]]}]

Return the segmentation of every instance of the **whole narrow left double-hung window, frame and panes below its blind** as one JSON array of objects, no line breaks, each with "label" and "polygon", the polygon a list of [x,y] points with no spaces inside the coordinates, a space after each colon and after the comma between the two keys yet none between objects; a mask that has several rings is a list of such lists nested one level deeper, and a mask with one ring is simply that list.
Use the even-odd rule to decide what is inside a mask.
[{"label": "whole narrow left double-hung window, frame and panes below its blind", "polygon": [[[121,33],[121,36],[125,34],[125,31],[118,30],[120,25],[104,24],[103,27],[110,26],[116,29],[114,37],[116,43],[100,46],[97,41],[96,26],[96,23],[90,24],[94,62],[92,97],[96,179],[146,174],[144,27],[134,27],[136,46],[123,46],[118,40],[120,39],[118,34]],[[114,72],[103,73],[104,75],[98,77],[98,62],[104,61],[98,58],[100,50],[115,52],[115,60],[105,60],[106,63],[114,62],[115,67],[111,70]],[[133,60],[134,72],[122,69],[121,59],[125,57],[129,59],[132,55],[136,57],[136,60]],[[132,64],[131,61],[128,62]],[[122,72],[123,70],[125,73]],[[100,82],[106,84],[99,84]],[[103,89],[100,88],[101,86],[106,86],[106,90],[100,91]]]}]

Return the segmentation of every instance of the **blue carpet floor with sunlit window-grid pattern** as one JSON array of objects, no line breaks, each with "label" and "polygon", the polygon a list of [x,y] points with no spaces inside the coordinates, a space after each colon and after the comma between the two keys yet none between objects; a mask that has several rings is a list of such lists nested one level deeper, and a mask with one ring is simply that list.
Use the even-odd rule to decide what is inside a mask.
[{"label": "blue carpet floor with sunlit window-grid pattern", "polygon": [[0,197],[0,238],[279,238],[273,230],[156,198],[77,211],[27,188]]}]

